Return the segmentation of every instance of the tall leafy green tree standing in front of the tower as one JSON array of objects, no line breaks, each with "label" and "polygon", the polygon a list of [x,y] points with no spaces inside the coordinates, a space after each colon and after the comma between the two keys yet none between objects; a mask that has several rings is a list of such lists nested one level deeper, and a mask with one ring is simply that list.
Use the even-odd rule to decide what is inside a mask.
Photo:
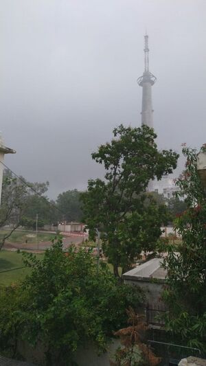
[{"label": "tall leafy green tree standing in front of the tower", "polygon": [[157,205],[146,188],[176,168],[178,155],[159,152],[157,135],[148,126],[120,125],[110,143],[100,146],[92,158],[104,165],[104,181],[90,180],[82,193],[84,220],[91,234],[102,231],[103,250],[118,275],[130,268],[142,250],[151,251],[161,235],[165,207]]}]

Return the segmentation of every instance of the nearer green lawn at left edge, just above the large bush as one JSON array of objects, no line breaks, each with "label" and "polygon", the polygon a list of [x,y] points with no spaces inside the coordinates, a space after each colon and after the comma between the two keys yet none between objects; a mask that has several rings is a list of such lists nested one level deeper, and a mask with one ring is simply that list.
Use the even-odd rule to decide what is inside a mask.
[{"label": "nearer green lawn at left edge, just above the large bush", "polygon": [[[37,258],[43,258],[43,254],[37,254]],[[31,268],[19,268],[23,267],[22,253],[16,253],[15,251],[0,251],[0,285],[9,286],[16,282],[21,281],[25,275],[29,274]],[[9,271],[14,268],[14,271]],[[3,272],[8,271],[8,272]]]}]

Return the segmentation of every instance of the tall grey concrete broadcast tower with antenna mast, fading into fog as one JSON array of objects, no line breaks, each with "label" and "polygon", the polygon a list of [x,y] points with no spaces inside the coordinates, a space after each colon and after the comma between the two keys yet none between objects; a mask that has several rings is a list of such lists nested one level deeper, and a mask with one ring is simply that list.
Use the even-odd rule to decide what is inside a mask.
[{"label": "tall grey concrete broadcast tower with antenna mast, fading into fog", "polygon": [[137,79],[139,87],[142,87],[141,124],[153,128],[152,109],[152,85],[157,78],[149,71],[148,34],[144,36],[144,73]]}]

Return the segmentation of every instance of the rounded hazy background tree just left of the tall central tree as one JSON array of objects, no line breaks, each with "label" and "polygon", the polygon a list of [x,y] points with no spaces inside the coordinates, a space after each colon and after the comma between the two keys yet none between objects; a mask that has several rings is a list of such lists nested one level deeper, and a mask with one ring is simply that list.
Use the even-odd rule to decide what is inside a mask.
[{"label": "rounded hazy background tree just left of the tall central tree", "polygon": [[59,194],[56,205],[62,213],[59,214],[59,220],[78,222],[82,220],[80,192],[78,190],[69,190]]}]

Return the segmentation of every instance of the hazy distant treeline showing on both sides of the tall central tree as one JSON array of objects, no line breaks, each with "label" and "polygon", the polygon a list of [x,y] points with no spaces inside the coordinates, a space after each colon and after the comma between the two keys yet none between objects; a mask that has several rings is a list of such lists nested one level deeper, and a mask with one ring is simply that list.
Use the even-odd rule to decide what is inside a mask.
[{"label": "hazy distant treeline showing on both sides of the tall central tree", "polygon": [[[35,229],[36,215],[38,215],[38,227],[44,225],[57,225],[58,222],[81,222],[84,220],[82,214],[82,203],[78,190],[68,190],[58,195],[56,201],[49,200],[47,191],[49,182],[31,183],[23,177],[16,179],[10,170],[3,173],[2,200],[8,202],[12,185],[19,189],[18,200],[21,201],[21,225]],[[26,182],[24,184],[23,182]],[[20,192],[21,190],[21,192]],[[159,205],[165,205],[169,214],[170,222],[185,210],[185,202],[179,198],[165,198],[163,194],[152,192],[152,196]],[[17,198],[15,198],[17,200]],[[14,201],[15,201],[14,199]],[[8,222],[7,222],[8,223]]]}]

